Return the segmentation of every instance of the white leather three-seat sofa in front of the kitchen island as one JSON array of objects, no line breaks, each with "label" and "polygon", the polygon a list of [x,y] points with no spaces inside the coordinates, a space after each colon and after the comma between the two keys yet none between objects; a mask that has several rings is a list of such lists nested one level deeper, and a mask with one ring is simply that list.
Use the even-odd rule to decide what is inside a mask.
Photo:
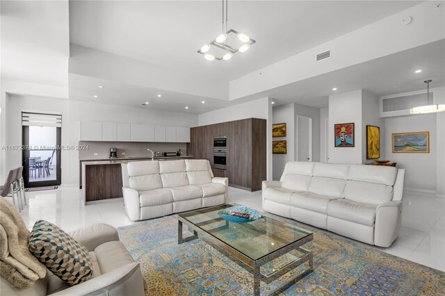
[{"label": "white leather three-seat sofa in front of the kitchen island", "polygon": [[209,161],[135,161],[122,164],[127,215],[144,220],[225,204],[227,178],[213,176]]}]

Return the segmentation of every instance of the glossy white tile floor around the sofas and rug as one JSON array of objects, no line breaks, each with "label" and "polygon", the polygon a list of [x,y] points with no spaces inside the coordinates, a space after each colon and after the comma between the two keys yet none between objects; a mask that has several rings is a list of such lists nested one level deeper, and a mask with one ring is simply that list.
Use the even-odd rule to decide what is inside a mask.
[{"label": "glossy white tile floor around the sofas and rug", "polygon": [[[82,192],[74,187],[26,192],[29,206],[22,216],[31,229],[35,220],[54,222],[65,231],[104,222],[121,227],[133,224],[122,199],[90,204],[81,202]],[[229,188],[228,202],[262,210],[261,192]],[[391,247],[383,252],[445,271],[445,199],[418,192],[405,192],[402,227]]]}]

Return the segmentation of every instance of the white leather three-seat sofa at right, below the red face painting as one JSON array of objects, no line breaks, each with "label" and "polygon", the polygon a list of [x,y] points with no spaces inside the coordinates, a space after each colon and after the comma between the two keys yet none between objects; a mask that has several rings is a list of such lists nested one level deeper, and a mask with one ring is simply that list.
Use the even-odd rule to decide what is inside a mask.
[{"label": "white leather three-seat sofa at right, below the red face painting", "polygon": [[396,167],[289,162],[280,181],[263,181],[263,208],[389,247],[401,226],[404,179]]}]

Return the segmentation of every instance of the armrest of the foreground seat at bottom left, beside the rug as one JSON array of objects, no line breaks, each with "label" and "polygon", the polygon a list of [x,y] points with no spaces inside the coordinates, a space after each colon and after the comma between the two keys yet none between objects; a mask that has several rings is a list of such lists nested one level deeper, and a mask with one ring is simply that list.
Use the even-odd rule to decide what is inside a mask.
[{"label": "armrest of the foreground seat at bottom left, beside the rug", "polygon": [[[111,270],[101,274],[99,277],[92,278],[83,283],[79,283],[76,286],[71,286],[65,290],[60,290],[57,293],[51,294],[54,296],[61,295],[144,295],[144,284],[142,281],[142,275],[140,275],[140,285],[131,283],[124,285],[135,272],[138,272],[139,264],[136,262],[123,265],[120,268]],[[121,286],[122,285],[122,286]],[[115,293],[108,291],[116,290]]]}]

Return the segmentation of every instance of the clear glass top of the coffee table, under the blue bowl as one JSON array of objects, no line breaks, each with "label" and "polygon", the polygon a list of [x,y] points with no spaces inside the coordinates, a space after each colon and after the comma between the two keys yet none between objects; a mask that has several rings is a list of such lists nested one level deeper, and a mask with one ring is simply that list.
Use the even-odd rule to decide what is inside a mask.
[{"label": "clear glass top of the coffee table, under the blue bowl", "polygon": [[179,216],[254,261],[312,234],[300,229],[293,221],[282,222],[263,213],[260,213],[261,218],[252,222],[228,222],[218,212],[231,206],[223,204],[200,208]]}]

